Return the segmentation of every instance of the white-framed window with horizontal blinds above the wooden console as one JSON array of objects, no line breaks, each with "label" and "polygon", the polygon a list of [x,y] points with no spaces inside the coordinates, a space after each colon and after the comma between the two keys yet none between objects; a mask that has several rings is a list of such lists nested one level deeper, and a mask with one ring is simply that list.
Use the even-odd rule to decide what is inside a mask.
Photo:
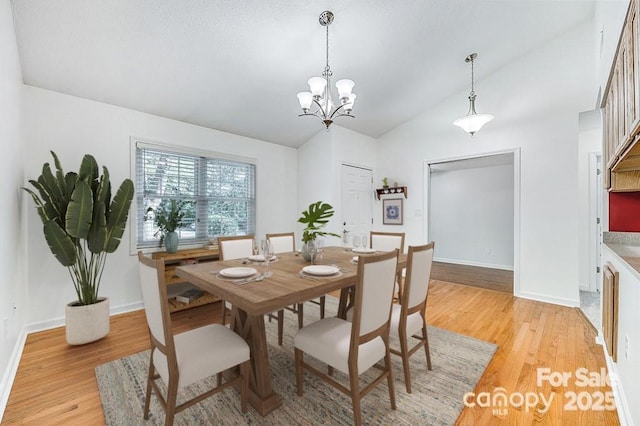
[{"label": "white-framed window with horizontal blinds above the wooden console", "polygon": [[180,244],[255,233],[255,164],[136,143],[137,245],[158,245],[149,207],[184,201]]}]

